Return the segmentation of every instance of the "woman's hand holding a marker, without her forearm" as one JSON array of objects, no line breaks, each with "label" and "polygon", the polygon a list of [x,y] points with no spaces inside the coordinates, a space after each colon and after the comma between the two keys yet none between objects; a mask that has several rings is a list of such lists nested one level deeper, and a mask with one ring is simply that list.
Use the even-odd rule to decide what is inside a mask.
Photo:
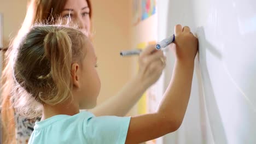
[{"label": "woman's hand holding a marker, without her forearm", "polygon": [[153,85],[162,74],[165,68],[166,57],[160,50],[155,49],[155,45],[149,45],[139,55],[139,71],[137,79],[145,89]]}]

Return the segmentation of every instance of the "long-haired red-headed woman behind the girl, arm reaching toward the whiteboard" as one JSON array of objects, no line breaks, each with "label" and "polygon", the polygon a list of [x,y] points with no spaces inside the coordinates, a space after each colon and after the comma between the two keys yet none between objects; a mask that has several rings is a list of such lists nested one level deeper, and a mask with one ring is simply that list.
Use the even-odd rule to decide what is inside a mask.
[{"label": "long-haired red-headed woman behind the girl, arm reaching toward the whiteboard", "polygon": [[[26,143],[33,131],[34,121],[38,119],[27,119],[15,115],[13,101],[10,96],[10,87],[13,84],[11,62],[11,49],[15,49],[20,37],[28,31],[33,23],[51,19],[51,17],[62,16],[72,20],[83,29],[90,32],[92,8],[89,0],[31,0],[28,7],[25,20],[19,30],[18,35],[5,53],[6,67],[2,74],[3,92],[2,92],[2,130],[4,143]],[[154,61],[164,59],[161,55],[152,53],[149,56],[139,57],[140,70],[138,74],[130,80],[121,91],[114,97],[108,99],[95,109],[90,110],[96,116],[114,115],[124,116],[137,102],[144,91],[159,79],[161,71],[155,71],[154,74],[146,75],[144,71],[154,69]],[[129,93],[129,94],[128,94]],[[121,109],[120,109],[121,107]]]}]

